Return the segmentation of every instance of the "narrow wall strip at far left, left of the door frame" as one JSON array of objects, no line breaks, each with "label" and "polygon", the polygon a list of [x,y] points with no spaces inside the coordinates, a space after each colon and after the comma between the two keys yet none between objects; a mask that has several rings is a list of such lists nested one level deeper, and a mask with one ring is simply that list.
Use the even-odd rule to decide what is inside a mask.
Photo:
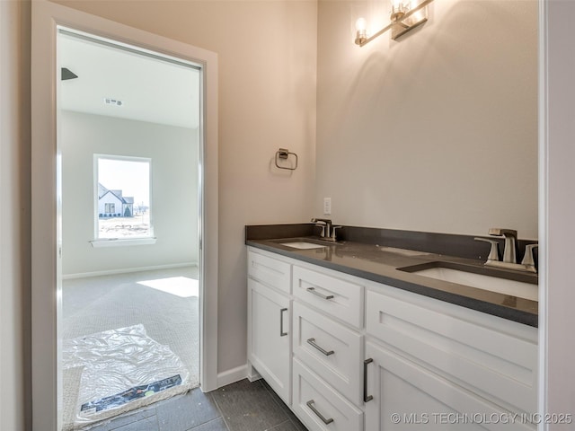
[{"label": "narrow wall strip at far left, left of the door frame", "polygon": [[0,1],[0,428],[31,429],[30,3]]}]

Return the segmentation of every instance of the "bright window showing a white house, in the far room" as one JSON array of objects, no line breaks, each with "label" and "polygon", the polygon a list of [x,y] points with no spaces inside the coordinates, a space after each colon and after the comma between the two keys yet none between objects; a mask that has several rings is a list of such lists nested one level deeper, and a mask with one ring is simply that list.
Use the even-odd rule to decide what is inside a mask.
[{"label": "bright window showing a white house, in the far room", "polygon": [[96,154],[96,239],[150,238],[150,159]]}]

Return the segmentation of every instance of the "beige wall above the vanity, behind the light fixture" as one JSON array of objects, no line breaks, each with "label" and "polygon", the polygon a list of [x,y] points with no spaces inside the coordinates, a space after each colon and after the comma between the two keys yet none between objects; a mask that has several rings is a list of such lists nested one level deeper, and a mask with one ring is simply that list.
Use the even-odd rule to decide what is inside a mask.
[{"label": "beige wall above the vanity, behind the light fixture", "polygon": [[315,214],[331,197],[341,224],[537,238],[536,0],[433,2],[359,48],[366,4],[319,1]]}]

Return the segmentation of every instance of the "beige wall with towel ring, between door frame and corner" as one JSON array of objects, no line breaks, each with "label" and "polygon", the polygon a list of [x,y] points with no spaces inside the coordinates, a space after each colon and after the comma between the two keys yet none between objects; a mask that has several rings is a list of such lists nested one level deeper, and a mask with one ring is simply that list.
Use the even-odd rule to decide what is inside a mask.
[{"label": "beige wall with towel ring, between door frame and corner", "polygon": [[[308,221],[314,189],[317,4],[305,1],[66,1],[218,54],[218,371],[246,361],[243,226]],[[272,168],[279,147],[299,156]]]}]

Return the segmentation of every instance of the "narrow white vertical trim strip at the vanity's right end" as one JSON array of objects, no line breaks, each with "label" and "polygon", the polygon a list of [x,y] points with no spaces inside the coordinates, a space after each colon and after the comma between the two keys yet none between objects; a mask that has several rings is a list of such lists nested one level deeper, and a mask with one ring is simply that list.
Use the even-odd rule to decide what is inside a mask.
[{"label": "narrow white vertical trim strip at the vanity's right end", "polygon": [[[538,123],[539,123],[539,367],[538,367],[538,389],[537,389],[537,412],[545,414],[547,407],[547,286],[548,286],[548,259],[547,241],[549,234],[548,209],[548,88],[547,88],[547,1],[539,0],[539,103],[538,103]],[[545,421],[537,425],[538,431],[548,429]]]}]

